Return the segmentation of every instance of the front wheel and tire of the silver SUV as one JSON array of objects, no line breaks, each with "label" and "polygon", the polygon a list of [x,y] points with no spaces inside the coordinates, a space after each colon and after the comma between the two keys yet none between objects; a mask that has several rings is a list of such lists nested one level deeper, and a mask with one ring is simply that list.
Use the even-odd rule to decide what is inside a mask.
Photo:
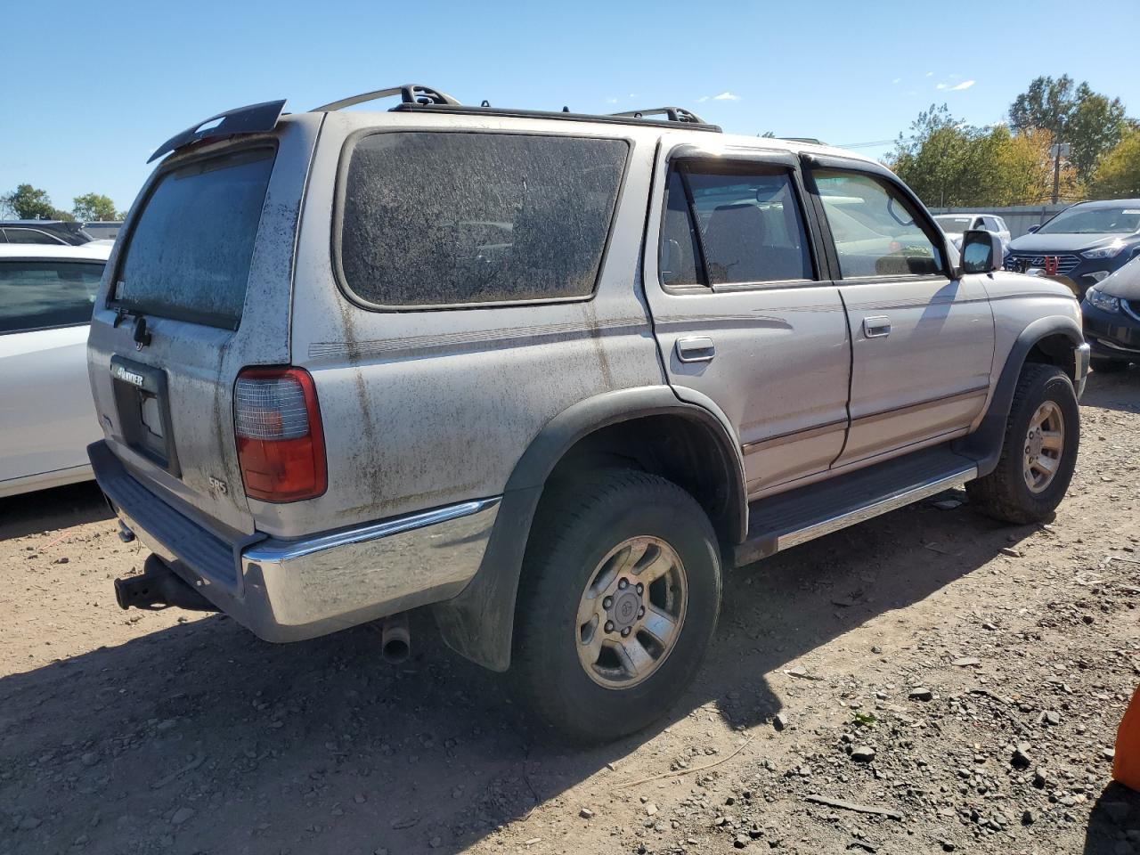
[{"label": "front wheel and tire of the silver SUV", "polygon": [[[1039,425],[1044,439],[1039,434],[1035,442],[1031,424],[1043,412],[1049,414]],[[1053,430],[1058,423],[1059,440],[1054,435],[1058,431]],[[970,502],[1003,522],[1048,520],[1073,480],[1080,446],[1081,416],[1073,381],[1056,366],[1027,364],[1013,391],[997,467],[966,484]],[[1036,459],[1035,464],[1031,465],[1031,457]],[[1048,472],[1043,466],[1048,461],[1053,462],[1054,471],[1045,478]],[[1031,487],[1031,480],[1037,483]]]}]

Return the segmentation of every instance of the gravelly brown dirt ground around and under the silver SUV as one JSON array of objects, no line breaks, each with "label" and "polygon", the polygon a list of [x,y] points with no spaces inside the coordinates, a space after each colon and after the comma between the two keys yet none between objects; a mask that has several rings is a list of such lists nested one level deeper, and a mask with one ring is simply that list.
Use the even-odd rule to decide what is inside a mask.
[{"label": "gravelly brown dirt ground around and under the silver SUV", "polygon": [[93,487],[2,500],[0,853],[1140,853],[1140,370],[1082,415],[1054,522],[928,502],[736,572],[699,682],[589,751],[430,614],[392,668],[372,627],[123,612]]}]

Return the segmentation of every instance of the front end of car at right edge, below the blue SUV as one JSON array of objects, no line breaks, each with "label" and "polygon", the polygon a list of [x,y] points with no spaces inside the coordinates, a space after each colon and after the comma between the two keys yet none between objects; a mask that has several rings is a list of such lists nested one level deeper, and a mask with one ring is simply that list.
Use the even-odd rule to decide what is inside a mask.
[{"label": "front end of car at right edge, below the blue SUV", "polygon": [[1090,287],[1081,309],[1094,369],[1117,372],[1140,363],[1140,258]]}]

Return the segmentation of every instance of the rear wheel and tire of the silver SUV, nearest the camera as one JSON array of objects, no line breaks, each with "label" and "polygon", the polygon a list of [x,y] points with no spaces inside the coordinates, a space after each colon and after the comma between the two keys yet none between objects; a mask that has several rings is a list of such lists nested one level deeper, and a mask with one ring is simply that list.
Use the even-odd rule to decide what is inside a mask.
[{"label": "rear wheel and tire of the silver SUV, nearest the camera", "polygon": [[[573,742],[609,741],[665,715],[697,675],[720,610],[717,538],[695,499],[657,475],[610,470],[555,489],[527,549],[513,670],[547,726]],[[630,584],[667,565],[641,593]],[[603,624],[600,611],[617,622]],[[667,635],[660,613],[674,618],[668,644],[646,629]],[[634,644],[652,660],[637,657],[641,677],[613,646]]]}]

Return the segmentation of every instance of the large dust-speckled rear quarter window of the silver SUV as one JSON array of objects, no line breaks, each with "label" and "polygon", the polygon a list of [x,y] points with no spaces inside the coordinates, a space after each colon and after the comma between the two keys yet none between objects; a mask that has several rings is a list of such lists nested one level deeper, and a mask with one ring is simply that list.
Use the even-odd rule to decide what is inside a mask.
[{"label": "large dust-speckled rear quarter window of the silver SUV", "polygon": [[342,280],[376,307],[588,296],[627,155],[579,137],[363,137],[342,179]]}]

